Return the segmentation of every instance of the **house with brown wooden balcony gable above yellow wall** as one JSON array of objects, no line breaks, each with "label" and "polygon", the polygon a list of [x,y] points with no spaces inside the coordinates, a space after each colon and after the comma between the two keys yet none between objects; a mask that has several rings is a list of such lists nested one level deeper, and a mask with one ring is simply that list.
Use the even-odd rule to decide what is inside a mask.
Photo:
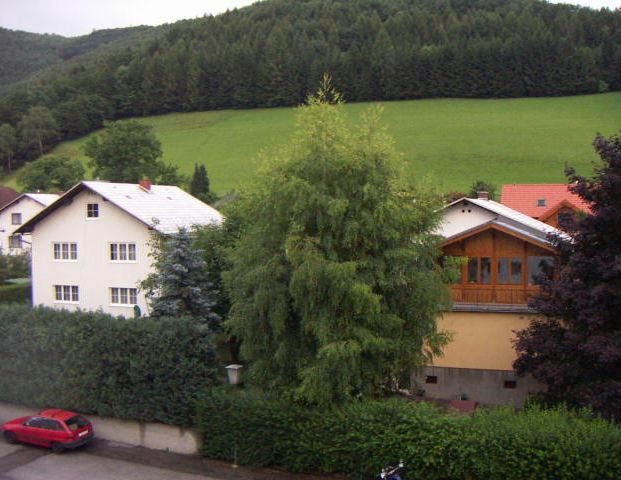
[{"label": "house with brown wooden balcony gable above yellow wall", "polygon": [[431,398],[522,405],[542,385],[513,371],[515,331],[534,314],[528,298],[554,268],[550,235],[562,232],[483,195],[446,206],[438,233],[444,254],[462,259],[453,308],[438,322],[453,338],[415,380]]}]

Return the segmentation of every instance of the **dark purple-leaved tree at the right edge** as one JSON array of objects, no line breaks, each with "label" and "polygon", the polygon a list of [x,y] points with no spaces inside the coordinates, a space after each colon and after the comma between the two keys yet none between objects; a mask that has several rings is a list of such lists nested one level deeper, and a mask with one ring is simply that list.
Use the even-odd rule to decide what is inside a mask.
[{"label": "dark purple-leaved tree at the right edge", "polygon": [[557,237],[560,271],[532,305],[542,318],[518,334],[515,368],[547,385],[544,397],[621,420],[621,134],[598,136],[594,178],[568,169],[592,215]]}]

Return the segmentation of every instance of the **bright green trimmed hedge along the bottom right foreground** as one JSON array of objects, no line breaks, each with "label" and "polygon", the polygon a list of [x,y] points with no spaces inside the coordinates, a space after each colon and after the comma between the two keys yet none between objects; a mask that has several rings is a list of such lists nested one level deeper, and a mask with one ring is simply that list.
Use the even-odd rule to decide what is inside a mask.
[{"label": "bright green trimmed hedge along the bottom right foreground", "polygon": [[621,478],[621,430],[587,412],[470,418],[401,399],[320,410],[230,388],[204,394],[197,412],[201,453],[246,465],[371,478],[404,459],[408,479]]}]

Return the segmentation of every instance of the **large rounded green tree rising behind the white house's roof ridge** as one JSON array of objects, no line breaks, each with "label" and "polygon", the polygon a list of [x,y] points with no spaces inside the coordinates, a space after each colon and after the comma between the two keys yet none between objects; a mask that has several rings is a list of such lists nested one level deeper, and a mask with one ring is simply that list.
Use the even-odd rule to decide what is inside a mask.
[{"label": "large rounded green tree rising behind the white house's roof ridge", "polygon": [[166,178],[170,182],[175,177],[173,167],[160,158],[162,146],[153,128],[135,120],[106,124],[103,133],[86,143],[84,153],[91,157],[93,175],[104,180],[136,183]]}]

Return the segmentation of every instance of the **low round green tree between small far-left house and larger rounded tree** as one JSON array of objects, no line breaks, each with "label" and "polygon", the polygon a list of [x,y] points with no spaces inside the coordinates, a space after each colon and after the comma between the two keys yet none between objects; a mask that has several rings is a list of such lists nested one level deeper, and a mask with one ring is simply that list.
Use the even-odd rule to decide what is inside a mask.
[{"label": "low round green tree between small far-left house and larger rounded tree", "polygon": [[45,156],[24,165],[17,183],[26,192],[59,192],[84,180],[84,166],[77,159]]}]

